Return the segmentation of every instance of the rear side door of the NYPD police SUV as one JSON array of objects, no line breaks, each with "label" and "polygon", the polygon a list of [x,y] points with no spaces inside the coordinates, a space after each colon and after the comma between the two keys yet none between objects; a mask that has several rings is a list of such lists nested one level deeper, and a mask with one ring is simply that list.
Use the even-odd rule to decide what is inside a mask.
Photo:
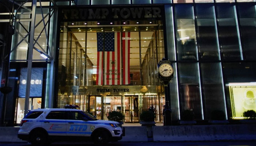
[{"label": "rear side door of the NYPD police SUV", "polygon": [[66,135],[65,111],[50,111],[42,121],[42,127],[49,135]]}]

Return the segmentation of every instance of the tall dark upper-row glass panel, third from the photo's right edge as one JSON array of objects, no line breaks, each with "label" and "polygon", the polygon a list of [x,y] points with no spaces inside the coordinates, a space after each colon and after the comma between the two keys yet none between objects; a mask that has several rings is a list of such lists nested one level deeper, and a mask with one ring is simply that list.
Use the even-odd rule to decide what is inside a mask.
[{"label": "tall dark upper-row glass panel, third from the photo's right edge", "polygon": [[219,46],[212,4],[196,5],[197,42],[202,60],[219,60]]}]

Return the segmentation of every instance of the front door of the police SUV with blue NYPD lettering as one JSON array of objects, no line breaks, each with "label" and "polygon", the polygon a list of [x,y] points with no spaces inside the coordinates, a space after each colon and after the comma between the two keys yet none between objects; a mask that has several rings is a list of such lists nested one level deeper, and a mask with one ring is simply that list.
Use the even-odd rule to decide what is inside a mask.
[{"label": "front door of the police SUV with blue NYPD lettering", "polygon": [[90,136],[86,116],[79,111],[67,111],[67,136]]}]

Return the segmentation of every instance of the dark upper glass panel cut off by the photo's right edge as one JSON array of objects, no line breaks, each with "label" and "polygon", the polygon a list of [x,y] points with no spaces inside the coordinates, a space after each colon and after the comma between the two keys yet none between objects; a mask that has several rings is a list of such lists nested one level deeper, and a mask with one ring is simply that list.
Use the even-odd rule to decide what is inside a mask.
[{"label": "dark upper glass panel cut off by the photo's right edge", "polygon": [[239,4],[238,13],[240,18],[241,40],[246,60],[255,60],[256,41],[256,8],[255,4]]}]

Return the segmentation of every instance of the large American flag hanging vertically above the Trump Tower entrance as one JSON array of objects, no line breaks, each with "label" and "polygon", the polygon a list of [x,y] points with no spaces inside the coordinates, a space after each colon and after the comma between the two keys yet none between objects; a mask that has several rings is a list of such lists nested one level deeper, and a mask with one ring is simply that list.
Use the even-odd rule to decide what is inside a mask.
[{"label": "large American flag hanging vertically above the Trump Tower entrance", "polygon": [[104,85],[122,85],[121,73],[123,85],[130,84],[130,32],[123,32],[122,36],[121,32],[97,32],[96,85],[103,85],[103,82]]}]

